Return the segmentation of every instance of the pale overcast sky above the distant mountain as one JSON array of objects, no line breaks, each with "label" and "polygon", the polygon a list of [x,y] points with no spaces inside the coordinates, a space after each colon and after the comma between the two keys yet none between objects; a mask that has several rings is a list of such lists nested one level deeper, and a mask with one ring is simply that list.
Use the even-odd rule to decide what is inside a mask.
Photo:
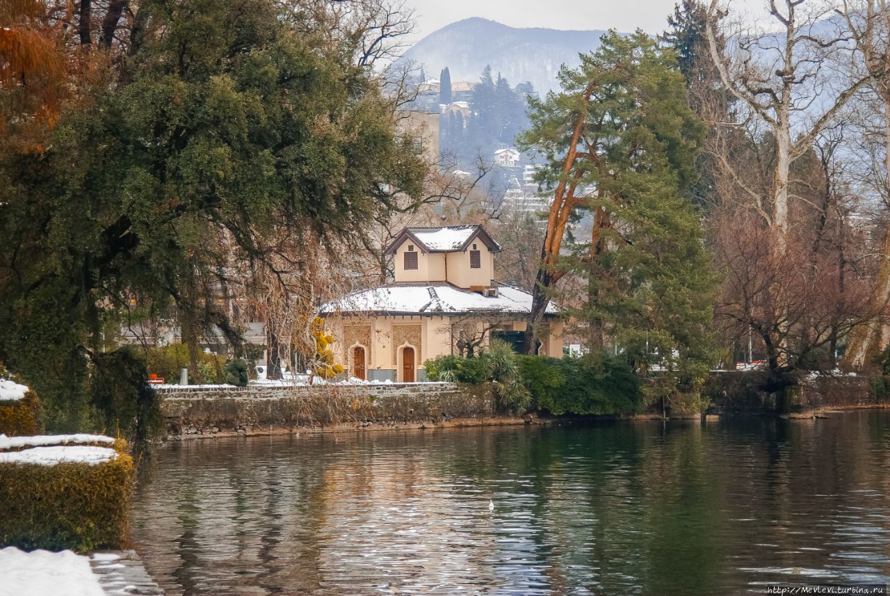
[{"label": "pale overcast sky above the distant mountain", "polygon": [[[417,18],[415,39],[456,20],[483,17],[511,27],[608,29],[665,28],[676,0],[405,0]],[[732,0],[732,10],[763,13],[765,0]]]}]

